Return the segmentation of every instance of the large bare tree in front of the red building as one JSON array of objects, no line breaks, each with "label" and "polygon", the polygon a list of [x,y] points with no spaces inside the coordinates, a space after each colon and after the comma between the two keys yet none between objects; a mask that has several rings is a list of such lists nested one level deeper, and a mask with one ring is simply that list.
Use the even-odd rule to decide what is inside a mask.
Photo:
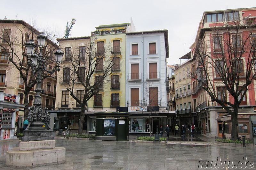
[{"label": "large bare tree in front of the red building", "polygon": [[208,38],[201,30],[194,55],[198,64],[197,82],[212,101],[219,103],[231,115],[232,140],[237,137],[238,108],[256,73],[255,25],[244,25],[243,22],[229,21],[224,26],[209,28],[207,31],[212,31],[212,36]]}]

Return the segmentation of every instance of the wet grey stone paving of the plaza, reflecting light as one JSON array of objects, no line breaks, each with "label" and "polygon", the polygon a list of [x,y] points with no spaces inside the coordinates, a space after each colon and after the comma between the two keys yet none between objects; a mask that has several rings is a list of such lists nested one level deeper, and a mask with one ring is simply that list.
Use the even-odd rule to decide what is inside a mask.
[{"label": "wet grey stone paving of the plaza, reflecting light", "polygon": [[[172,137],[171,137],[172,138]],[[40,170],[75,170],[75,169],[198,169],[200,160],[231,160],[234,164],[247,157],[254,162],[256,169],[256,146],[231,147],[208,145],[212,138],[202,138],[204,145],[196,145],[180,139],[180,144],[139,143],[134,141],[84,141],[56,138],[56,146],[66,148],[66,162],[60,165],[41,166]],[[171,140],[168,140],[171,141]],[[177,140],[176,140],[177,141]],[[199,142],[198,142],[199,143]],[[210,144],[210,143],[209,143]],[[6,151],[18,147],[18,142],[0,143],[0,170],[15,168],[5,166]],[[203,168],[202,168],[203,169]],[[208,168],[206,168],[208,169]],[[226,168],[225,168],[226,169]]]}]

